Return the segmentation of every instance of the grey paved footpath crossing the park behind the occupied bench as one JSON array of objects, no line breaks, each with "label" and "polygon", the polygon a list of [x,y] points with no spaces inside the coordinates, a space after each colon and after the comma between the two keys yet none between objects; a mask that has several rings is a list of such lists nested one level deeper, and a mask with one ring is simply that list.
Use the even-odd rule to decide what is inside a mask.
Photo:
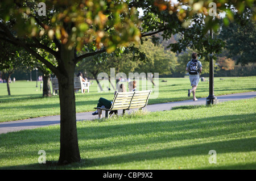
[{"label": "grey paved footpath crossing the park behind the occupied bench", "polygon": [[[225,102],[229,100],[240,100],[240,99],[250,99],[256,97],[256,92],[245,92],[238,94],[229,94],[217,96],[218,102]],[[166,111],[171,110],[175,106],[189,106],[189,105],[203,105],[206,104],[206,98],[200,98],[197,101],[184,100],[180,102],[169,102],[162,104],[150,104],[146,106],[147,111]],[[105,112],[105,111],[104,111]],[[122,111],[119,111],[120,113]],[[102,116],[105,116],[104,114]],[[80,120],[93,120],[98,116],[93,116],[92,112],[82,112],[76,114],[77,121]],[[23,129],[34,129],[38,127],[44,127],[47,125],[59,124],[60,116],[46,116],[46,117],[36,117],[32,119],[19,120],[19,121],[9,121],[0,123],[0,134],[7,132],[15,132]]]}]

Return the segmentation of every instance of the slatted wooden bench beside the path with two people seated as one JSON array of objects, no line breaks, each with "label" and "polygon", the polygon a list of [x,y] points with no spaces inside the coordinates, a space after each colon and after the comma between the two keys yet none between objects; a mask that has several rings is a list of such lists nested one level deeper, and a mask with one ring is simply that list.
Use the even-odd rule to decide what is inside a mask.
[{"label": "slatted wooden bench beside the path with two people seated", "polygon": [[100,109],[105,111],[105,117],[109,117],[109,111],[123,110],[123,115],[126,110],[139,108],[140,110],[147,106],[148,98],[151,90],[146,91],[134,91],[134,92],[117,92],[115,94],[112,106],[108,108],[95,107],[94,109]]}]

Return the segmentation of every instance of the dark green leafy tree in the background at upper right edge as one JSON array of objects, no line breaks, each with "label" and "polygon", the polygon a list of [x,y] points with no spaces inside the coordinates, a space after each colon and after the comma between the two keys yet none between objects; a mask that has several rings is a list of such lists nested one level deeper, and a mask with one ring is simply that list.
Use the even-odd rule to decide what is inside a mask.
[{"label": "dark green leafy tree in the background at upper right edge", "polygon": [[[220,33],[226,42],[225,48],[229,51],[228,57],[242,65],[256,61],[256,22],[251,19],[253,8],[236,15],[236,21],[223,27]],[[225,22],[224,22],[225,23]]]}]

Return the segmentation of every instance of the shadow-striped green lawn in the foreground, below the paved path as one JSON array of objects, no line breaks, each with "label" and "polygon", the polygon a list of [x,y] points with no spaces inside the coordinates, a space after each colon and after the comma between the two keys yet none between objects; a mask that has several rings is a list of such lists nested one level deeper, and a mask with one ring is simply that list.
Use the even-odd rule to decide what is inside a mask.
[{"label": "shadow-striped green lawn in the foreground, below the paved path", "polygon": [[[0,169],[255,170],[255,107],[254,98],[79,121],[82,161],[67,166],[56,165],[59,125],[0,134]],[[38,163],[39,150],[46,164]],[[216,163],[209,163],[210,150]]]}]

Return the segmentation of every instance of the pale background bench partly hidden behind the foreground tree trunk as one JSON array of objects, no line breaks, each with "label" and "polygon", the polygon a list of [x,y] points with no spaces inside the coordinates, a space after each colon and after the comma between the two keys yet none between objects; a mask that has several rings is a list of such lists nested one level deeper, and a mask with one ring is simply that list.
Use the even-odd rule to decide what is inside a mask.
[{"label": "pale background bench partly hidden behind the foreground tree trunk", "polygon": [[[89,92],[89,82],[82,82],[82,77],[74,77],[74,89],[81,89],[82,93],[84,93],[84,90],[87,89],[87,92]],[[55,95],[55,90],[59,90],[59,82],[57,78],[52,78],[53,95]]]}]

